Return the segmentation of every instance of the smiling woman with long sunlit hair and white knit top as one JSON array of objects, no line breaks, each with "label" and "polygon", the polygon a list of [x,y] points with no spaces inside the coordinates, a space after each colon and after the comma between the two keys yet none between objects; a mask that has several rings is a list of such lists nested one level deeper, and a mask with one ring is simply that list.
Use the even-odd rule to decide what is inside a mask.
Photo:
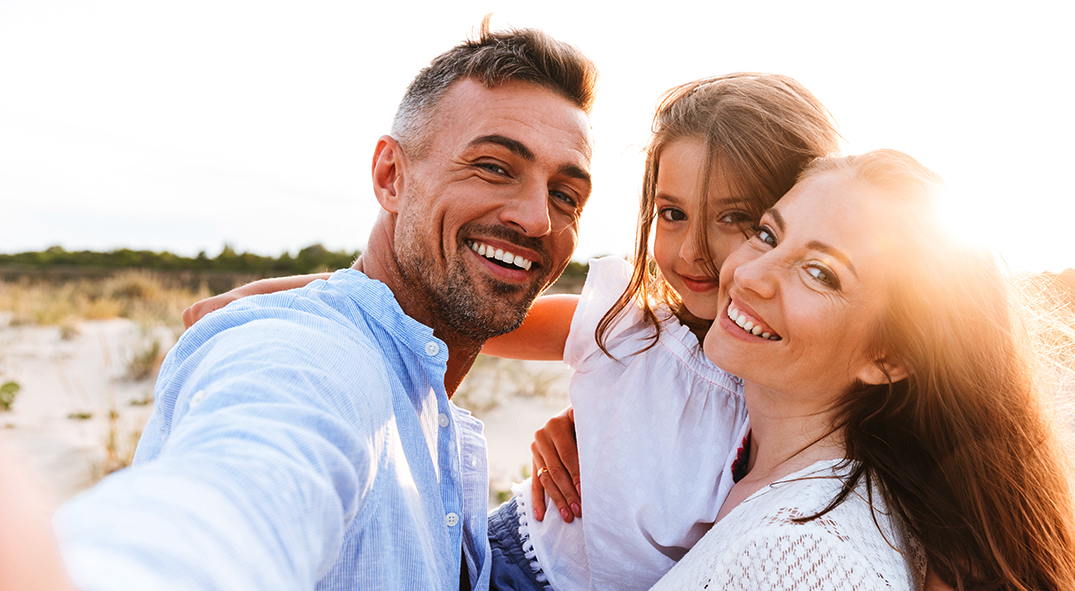
[{"label": "smiling woman with long sunlit hair and white knit top", "polygon": [[[751,432],[655,589],[1075,588],[1070,464],[988,256],[906,155],[822,159],[720,273],[705,352]],[[772,336],[756,336],[761,326]]]}]

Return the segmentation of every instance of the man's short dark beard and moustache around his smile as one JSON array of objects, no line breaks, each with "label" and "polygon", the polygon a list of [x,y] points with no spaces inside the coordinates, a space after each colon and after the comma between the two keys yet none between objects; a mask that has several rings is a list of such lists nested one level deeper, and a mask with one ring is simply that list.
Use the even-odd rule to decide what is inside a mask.
[{"label": "man's short dark beard and moustache around his smile", "polygon": [[[483,227],[483,232],[513,244],[527,245],[540,254],[545,251],[539,241],[503,227]],[[530,304],[544,289],[545,282],[519,285],[492,277],[472,278],[461,258],[467,256],[463,248],[465,246],[460,245],[457,249],[459,258],[448,261],[444,277],[431,276],[428,264],[431,253],[424,251],[416,242],[406,245],[397,243],[393,256],[403,280],[422,291],[434,307],[434,317],[445,328],[476,342],[485,342],[519,328],[530,311]],[[542,279],[547,276],[545,271]]]}]

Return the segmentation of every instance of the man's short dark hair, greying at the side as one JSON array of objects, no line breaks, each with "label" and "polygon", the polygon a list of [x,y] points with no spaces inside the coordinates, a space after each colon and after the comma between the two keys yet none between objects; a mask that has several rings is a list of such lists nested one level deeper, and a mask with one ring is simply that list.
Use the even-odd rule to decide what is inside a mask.
[{"label": "man's short dark hair, greying at the side", "polygon": [[396,112],[392,135],[412,157],[420,158],[436,106],[461,80],[475,78],[488,88],[527,82],[560,95],[588,115],[597,77],[593,62],[575,46],[538,29],[492,32],[487,16],[477,39],[441,54],[415,76]]}]

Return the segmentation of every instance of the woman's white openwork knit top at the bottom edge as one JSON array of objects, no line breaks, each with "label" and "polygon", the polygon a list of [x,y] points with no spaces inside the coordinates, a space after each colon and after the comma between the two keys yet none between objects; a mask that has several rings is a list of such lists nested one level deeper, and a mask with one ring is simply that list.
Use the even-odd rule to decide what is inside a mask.
[{"label": "woman's white openwork knit top at the bottom edge", "polygon": [[747,498],[654,587],[664,590],[923,589],[926,558],[860,482],[823,517],[797,523],[841,490],[841,460],[817,462]]}]

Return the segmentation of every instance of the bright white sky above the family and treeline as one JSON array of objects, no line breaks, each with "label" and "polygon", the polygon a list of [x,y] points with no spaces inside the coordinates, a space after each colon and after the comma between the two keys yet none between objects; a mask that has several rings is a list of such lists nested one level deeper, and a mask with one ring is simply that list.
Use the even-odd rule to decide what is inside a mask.
[{"label": "bright white sky above the family and treeline", "polygon": [[847,152],[940,173],[1017,269],[1075,266],[1067,3],[599,4],[0,0],[0,251],[362,248],[406,84],[494,12],[601,69],[579,260],[631,250],[660,93],[749,70],[809,88]]}]

